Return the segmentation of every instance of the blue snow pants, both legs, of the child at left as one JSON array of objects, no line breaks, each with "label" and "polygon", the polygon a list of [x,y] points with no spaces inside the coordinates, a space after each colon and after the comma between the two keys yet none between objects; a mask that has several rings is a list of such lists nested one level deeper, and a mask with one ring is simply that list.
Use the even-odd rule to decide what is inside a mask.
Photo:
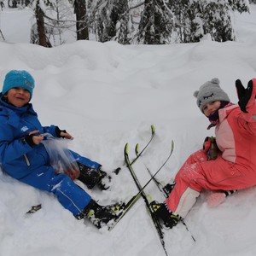
[{"label": "blue snow pants, both legs, of the child at left", "polygon": [[[91,161],[76,152],[71,151],[71,153],[76,161],[85,166],[95,169],[98,169],[100,166],[98,163]],[[74,216],[77,216],[84,207],[88,205],[91,200],[90,195],[74,183],[66,174],[56,174],[55,169],[49,165],[48,154],[44,154],[44,157],[47,158],[45,164],[41,166],[27,166],[30,171],[27,172],[29,170],[27,169],[25,176],[20,176],[20,172],[16,172],[17,170],[15,168],[6,170],[6,172],[20,182],[29,184],[36,189],[53,193],[63,207],[70,212],[73,212]],[[17,168],[19,168],[19,166],[17,166]]]}]

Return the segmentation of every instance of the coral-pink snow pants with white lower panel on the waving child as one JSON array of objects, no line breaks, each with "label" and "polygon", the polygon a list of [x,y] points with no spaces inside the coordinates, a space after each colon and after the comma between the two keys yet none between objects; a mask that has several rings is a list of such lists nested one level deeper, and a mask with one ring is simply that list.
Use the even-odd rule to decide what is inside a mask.
[{"label": "coral-pink snow pants with white lower panel on the waving child", "polygon": [[[175,177],[175,187],[166,199],[173,214],[184,218],[202,189],[233,190],[255,185],[255,178],[246,176],[247,169],[224,160],[221,154],[216,160],[207,160],[203,150],[191,154]],[[255,176],[255,175],[254,175]]]}]

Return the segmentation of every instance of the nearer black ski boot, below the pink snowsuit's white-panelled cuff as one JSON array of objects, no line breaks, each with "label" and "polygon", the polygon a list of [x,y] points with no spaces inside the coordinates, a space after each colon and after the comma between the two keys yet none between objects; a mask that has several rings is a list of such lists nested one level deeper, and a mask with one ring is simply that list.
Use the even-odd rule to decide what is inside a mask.
[{"label": "nearer black ski boot, below the pink snowsuit's white-panelled cuff", "polygon": [[165,203],[153,201],[150,203],[150,207],[154,211],[154,214],[163,221],[166,228],[172,229],[172,227],[176,226],[182,219],[179,216],[172,214]]}]

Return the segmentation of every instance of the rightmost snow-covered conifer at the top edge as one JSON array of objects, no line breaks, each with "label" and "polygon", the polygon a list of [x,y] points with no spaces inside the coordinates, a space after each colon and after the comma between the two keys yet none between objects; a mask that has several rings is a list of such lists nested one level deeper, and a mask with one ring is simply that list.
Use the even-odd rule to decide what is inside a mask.
[{"label": "rightmost snow-covered conifer at the top edge", "polygon": [[248,11],[247,0],[170,0],[177,43],[199,42],[209,34],[213,41],[235,40],[232,13]]}]

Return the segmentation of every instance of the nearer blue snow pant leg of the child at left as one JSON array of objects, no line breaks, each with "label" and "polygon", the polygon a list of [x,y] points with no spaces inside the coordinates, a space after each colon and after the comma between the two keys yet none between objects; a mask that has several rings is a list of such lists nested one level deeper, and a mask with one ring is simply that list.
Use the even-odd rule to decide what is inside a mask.
[{"label": "nearer blue snow pant leg of the child at left", "polygon": [[74,216],[78,216],[91,199],[90,195],[74,183],[70,177],[64,173],[56,174],[51,166],[38,168],[21,178],[20,182],[53,193],[61,205],[73,212]]}]

